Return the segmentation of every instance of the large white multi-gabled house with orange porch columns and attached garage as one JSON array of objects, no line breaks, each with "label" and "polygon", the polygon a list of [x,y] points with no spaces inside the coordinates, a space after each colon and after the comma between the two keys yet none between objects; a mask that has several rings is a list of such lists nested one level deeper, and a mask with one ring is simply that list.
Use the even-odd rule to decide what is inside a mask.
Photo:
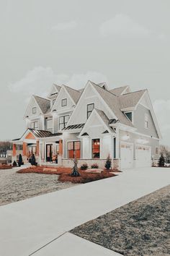
[{"label": "large white multi-gabled house with orange porch columns and attached garage", "polygon": [[47,164],[58,155],[59,166],[81,163],[104,166],[151,166],[158,159],[161,133],[148,90],[130,92],[129,86],[109,90],[106,83],[88,81],[84,89],[53,85],[48,98],[33,95],[24,115],[27,130],[13,140],[22,144],[23,158],[32,153]]}]

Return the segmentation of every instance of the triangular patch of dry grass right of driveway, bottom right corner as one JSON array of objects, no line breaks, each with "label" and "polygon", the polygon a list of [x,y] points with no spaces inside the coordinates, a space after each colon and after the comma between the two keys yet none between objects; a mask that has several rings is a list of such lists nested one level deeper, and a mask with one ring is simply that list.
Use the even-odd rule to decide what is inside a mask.
[{"label": "triangular patch of dry grass right of driveway, bottom right corner", "polygon": [[71,230],[127,256],[170,255],[170,185]]}]

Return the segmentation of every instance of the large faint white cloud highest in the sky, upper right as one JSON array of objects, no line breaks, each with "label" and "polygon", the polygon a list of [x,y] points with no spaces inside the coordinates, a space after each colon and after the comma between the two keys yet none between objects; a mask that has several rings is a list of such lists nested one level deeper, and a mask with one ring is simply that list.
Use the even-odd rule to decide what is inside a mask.
[{"label": "large faint white cloud highest in the sky, upper right", "polygon": [[120,35],[122,37],[145,37],[149,30],[138,22],[135,22],[125,14],[117,14],[110,20],[102,23],[99,27],[102,36]]}]

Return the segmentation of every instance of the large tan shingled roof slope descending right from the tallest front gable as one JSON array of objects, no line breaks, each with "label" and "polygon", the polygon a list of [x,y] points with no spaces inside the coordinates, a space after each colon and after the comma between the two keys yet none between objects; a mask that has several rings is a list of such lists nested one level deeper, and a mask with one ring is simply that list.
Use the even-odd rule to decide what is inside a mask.
[{"label": "large tan shingled roof slope descending right from the tallest front gable", "polygon": [[115,113],[120,123],[133,127],[132,122],[120,110],[119,98],[116,95],[110,93],[108,90],[104,90],[103,88],[99,87],[99,85],[94,84],[94,82],[92,82],[92,84],[94,85],[94,88],[97,90],[99,95],[101,95],[101,97],[107,103],[109,108],[113,111],[113,113]]}]

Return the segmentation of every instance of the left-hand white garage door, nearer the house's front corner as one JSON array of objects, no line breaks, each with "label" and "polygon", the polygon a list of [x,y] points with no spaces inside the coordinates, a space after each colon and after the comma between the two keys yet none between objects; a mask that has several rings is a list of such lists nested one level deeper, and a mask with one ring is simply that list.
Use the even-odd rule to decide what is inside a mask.
[{"label": "left-hand white garage door, nearer the house's front corner", "polygon": [[133,144],[121,142],[120,159],[121,168],[133,168]]}]

